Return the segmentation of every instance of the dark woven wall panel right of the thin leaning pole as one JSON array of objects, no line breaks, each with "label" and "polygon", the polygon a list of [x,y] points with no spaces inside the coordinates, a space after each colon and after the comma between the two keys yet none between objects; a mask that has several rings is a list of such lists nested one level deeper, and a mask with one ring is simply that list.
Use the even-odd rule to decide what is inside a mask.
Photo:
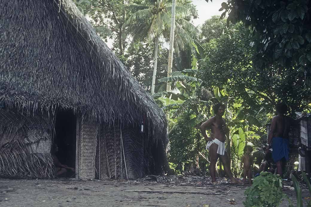
[{"label": "dark woven wall panel right of the thin leaning pole", "polygon": [[137,129],[123,129],[123,145],[129,179],[145,175],[144,139]]}]

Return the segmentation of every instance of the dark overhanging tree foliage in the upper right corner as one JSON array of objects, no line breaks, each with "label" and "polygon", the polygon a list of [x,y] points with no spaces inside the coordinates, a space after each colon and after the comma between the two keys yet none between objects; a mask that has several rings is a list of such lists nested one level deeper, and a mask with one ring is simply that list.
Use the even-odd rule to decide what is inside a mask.
[{"label": "dark overhanging tree foliage in the upper right corner", "polygon": [[294,110],[309,104],[311,92],[310,6],[308,0],[232,0],[220,8],[222,17],[229,15],[228,24],[242,21],[248,27],[244,39],[252,46],[253,71],[280,80],[272,82],[277,99]]}]

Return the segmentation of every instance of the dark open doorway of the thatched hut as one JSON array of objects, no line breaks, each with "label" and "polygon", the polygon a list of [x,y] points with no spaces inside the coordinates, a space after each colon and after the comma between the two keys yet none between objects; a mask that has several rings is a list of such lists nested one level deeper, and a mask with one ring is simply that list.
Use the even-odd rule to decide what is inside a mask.
[{"label": "dark open doorway of the thatched hut", "polygon": [[[68,167],[76,167],[77,117],[72,111],[59,111],[56,114],[54,146],[59,162]],[[60,177],[74,177],[71,170]]]}]

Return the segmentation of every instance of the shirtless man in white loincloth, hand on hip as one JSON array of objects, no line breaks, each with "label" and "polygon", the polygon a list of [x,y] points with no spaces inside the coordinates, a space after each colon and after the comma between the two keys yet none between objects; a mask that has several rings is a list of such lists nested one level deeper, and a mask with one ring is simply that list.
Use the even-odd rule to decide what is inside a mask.
[{"label": "shirtless man in white loincloth, hand on hip", "polygon": [[[225,120],[222,118],[225,112],[225,106],[218,103],[213,107],[213,109],[215,116],[209,118],[200,126],[202,134],[207,141],[206,148],[209,150],[211,157],[210,173],[212,182],[216,182],[216,162],[218,158],[220,158],[224,165],[225,172],[230,177],[231,182],[237,183],[231,173],[230,162],[227,153],[225,152],[226,136],[229,137],[229,129],[226,126]],[[206,129],[208,128],[211,129],[211,137],[208,137],[206,134]]]}]

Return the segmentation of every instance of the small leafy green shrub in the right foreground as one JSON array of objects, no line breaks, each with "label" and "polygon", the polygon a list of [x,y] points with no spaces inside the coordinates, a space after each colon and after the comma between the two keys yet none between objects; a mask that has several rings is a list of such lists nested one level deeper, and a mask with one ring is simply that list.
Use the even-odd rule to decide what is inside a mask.
[{"label": "small leafy green shrub in the right foreground", "polygon": [[244,194],[246,200],[243,204],[247,207],[275,207],[281,204],[283,198],[289,200],[282,190],[282,178],[268,172],[262,172],[260,176],[255,177],[253,185],[246,189]]}]

